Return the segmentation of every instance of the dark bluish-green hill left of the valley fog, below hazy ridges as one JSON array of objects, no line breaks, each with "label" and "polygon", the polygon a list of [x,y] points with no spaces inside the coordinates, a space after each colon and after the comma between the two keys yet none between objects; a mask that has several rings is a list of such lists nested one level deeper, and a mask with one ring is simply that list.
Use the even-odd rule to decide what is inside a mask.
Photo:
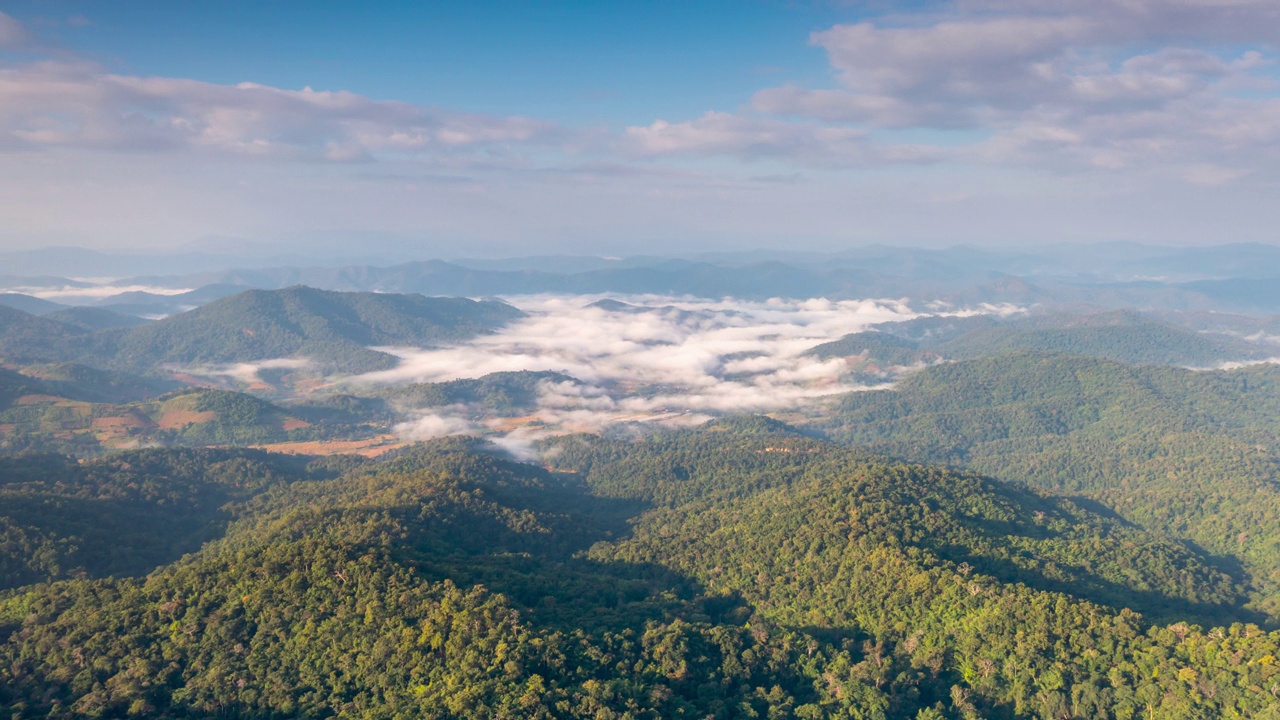
[{"label": "dark bluish-green hill left of the valley fog, below hazy ridges", "polygon": [[[251,290],[140,327],[97,329],[110,318],[37,318],[0,306],[0,359],[68,361],[147,373],[159,365],[308,357],[361,373],[396,359],[371,346],[433,346],[493,331],[522,314],[498,301],[308,287]],[[59,319],[64,322],[59,322]]]}]

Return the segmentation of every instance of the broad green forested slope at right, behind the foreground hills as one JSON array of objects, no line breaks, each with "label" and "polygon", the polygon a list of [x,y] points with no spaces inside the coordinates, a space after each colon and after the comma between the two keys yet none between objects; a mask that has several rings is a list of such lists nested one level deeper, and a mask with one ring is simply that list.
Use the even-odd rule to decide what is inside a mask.
[{"label": "broad green forested slope at right, behind the foreground hills", "polygon": [[1192,372],[1021,354],[922,370],[852,393],[837,439],[973,468],[1103,503],[1193,541],[1280,614],[1280,368]]}]

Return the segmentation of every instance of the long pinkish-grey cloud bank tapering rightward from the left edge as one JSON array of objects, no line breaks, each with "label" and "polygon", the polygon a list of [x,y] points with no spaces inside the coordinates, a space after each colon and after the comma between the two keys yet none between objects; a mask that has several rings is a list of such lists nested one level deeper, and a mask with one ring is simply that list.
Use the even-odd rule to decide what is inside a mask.
[{"label": "long pinkish-grey cloud bank tapering rightward from the left edge", "polygon": [[352,161],[544,142],[544,120],[44,61],[0,70],[0,147],[192,150]]}]

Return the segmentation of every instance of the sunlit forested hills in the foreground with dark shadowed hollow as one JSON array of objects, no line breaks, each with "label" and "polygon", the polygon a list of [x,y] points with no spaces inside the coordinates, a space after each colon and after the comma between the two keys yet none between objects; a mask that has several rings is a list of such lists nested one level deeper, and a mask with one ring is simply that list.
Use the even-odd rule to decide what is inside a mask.
[{"label": "sunlit forested hills in the foreground with dark shadowed hollow", "polygon": [[[554,471],[462,439],[379,461],[13,460],[0,487],[27,500],[0,505],[9,527],[88,577],[0,594],[0,706],[1276,717],[1280,635],[1238,621],[1236,579],[1069,501],[764,420],[548,450]],[[97,530],[50,520],[72,500],[137,523],[108,528],[134,565],[63,552],[102,547]],[[179,518],[138,532],[166,507]],[[146,577],[95,578],[151,562]]]}]

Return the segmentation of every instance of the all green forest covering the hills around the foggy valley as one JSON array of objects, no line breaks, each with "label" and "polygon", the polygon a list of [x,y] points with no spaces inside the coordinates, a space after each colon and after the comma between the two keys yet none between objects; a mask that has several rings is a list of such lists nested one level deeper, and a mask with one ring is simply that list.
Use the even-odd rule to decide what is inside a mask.
[{"label": "all green forest covering the hills around the foggy valley", "polygon": [[[1280,368],[1170,366],[1265,355],[1253,324],[881,323],[809,355],[897,382],[801,428],[620,424],[530,464],[388,433],[545,429],[575,378],[334,377],[502,302],[41,311],[0,304],[0,716],[1280,720]],[[225,386],[262,396],[156,372],[285,356],[315,364]]]}]

